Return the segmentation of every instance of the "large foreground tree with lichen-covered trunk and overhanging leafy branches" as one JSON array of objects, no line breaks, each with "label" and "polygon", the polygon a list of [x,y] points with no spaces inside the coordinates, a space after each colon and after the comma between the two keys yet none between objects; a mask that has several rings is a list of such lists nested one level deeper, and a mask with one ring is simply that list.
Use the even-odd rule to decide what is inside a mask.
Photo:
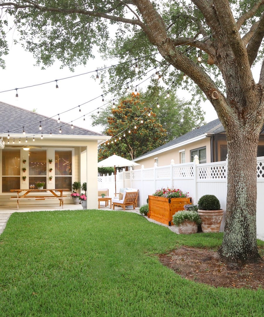
[{"label": "large foreground tree with lichen-covered trunk and overhanging leafy branches", "polygon": [[[171,89],[182,84],[194,96],[203,92],[228,142],[227,217],[219,255],[226,261],[259,258],[255,175],[264,123],[263,0],[2,0],[0,7],[1,55],[7,53],[10,21],[18,40],[44,66],[58,58],[74,67],[96,48],[120,60],[109,68],[108,86],[130,83],[156,66]],[[258,61],[256,82],[251,70]]]}]

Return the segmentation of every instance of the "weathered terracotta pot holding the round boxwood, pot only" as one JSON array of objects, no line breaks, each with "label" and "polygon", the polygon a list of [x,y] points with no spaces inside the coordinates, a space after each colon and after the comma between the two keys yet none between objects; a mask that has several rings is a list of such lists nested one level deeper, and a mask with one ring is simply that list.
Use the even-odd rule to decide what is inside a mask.
[{"label": "weathered terracotta pot holding the round boxwood, pot only", "polygon": [[198,214],[202,219],[203,232],[219,232],[224,210],[201,210],[198,209]]}]

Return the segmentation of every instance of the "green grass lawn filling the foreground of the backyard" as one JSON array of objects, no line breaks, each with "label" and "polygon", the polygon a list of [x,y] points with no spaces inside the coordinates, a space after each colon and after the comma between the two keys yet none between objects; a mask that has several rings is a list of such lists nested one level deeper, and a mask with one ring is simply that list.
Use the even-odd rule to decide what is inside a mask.
[{"label": "green grass lawn filling the foreground of the backyard", "polygon": [[188,281],[155,255],[221,241],[123,211],[14,213],[0,236],[0,316],[263,316],[263,290]]}]

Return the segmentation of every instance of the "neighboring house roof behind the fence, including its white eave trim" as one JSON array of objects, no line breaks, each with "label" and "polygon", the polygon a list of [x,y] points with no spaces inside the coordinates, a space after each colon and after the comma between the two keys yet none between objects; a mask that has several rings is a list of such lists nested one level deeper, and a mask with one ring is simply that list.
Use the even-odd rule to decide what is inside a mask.
[{"label": "neighboring house roof behind the fence, including its white eave trim", "polygon": [[224,131],[224,127],[222,126],[222,123],[220,122],[219,119],[216,119],[188,133],[185,133],[184,135],[181,135],[177,139],[171,140],[170,142],[165,143],[150,152],[147,152],[139,156],[136,159],[133,159],[133,161],[145,159],[155,154],[169,151],[178,146],[182,146],[184,144],[203,139],[206,137],[207,134],[215,134],[215,133],[220,133],[223,131]]}]

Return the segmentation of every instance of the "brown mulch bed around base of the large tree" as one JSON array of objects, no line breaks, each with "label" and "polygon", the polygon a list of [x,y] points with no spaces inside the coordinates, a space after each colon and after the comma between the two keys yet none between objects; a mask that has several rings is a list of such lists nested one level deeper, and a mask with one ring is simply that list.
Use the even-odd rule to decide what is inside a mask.
[{"label": "brown mulch bed around base of the large tree", "polygon": [[215,287],[264,289],[264,257],[242,267],[221,262],[217,252],[207,249],[181,247],[158,257],[163,265],[192,281]]}]

